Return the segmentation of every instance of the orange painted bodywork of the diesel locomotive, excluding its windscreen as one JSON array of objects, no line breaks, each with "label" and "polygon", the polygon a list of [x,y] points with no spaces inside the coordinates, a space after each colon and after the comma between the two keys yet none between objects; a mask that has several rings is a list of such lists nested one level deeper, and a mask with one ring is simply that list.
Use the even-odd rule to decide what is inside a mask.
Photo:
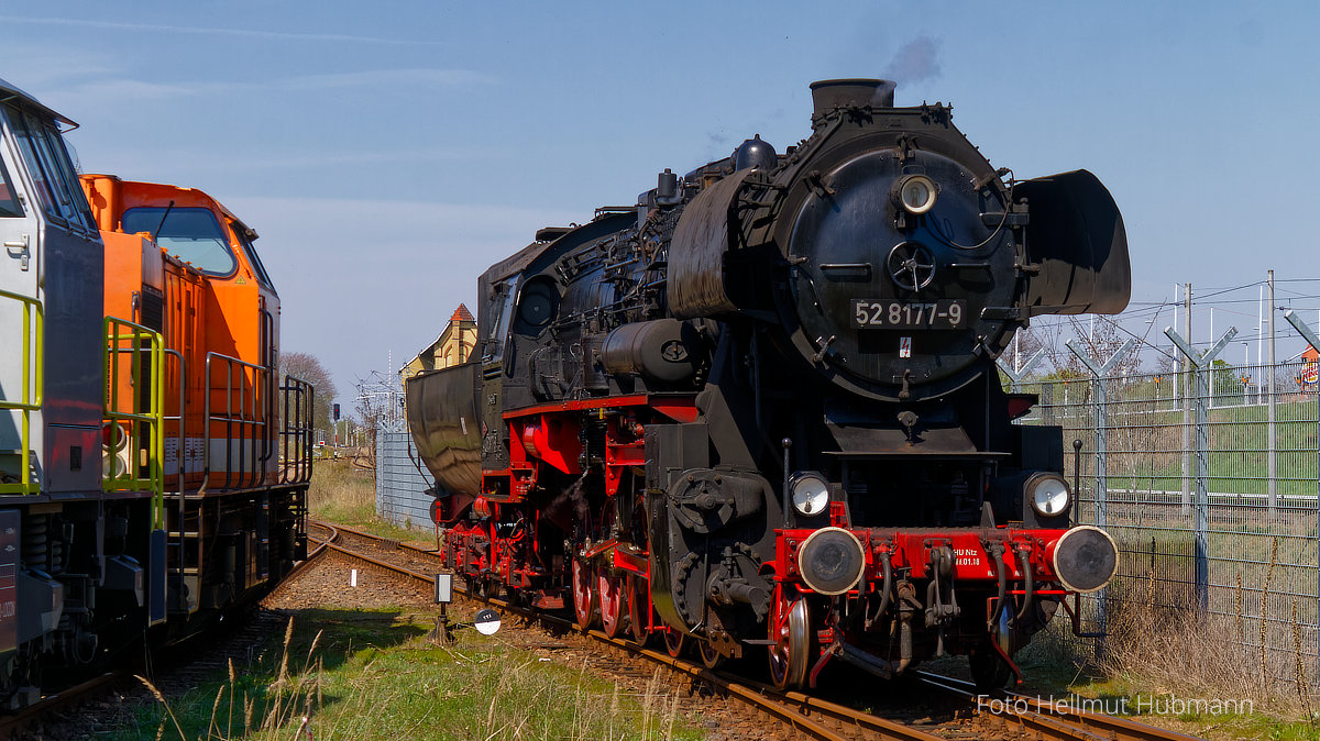
[{"label": "orange painted bodywork of the diesel locomotive, excluding its windscreen", "polygon": [[[190,490],[201,488],[203,480],[209,490],[276,483],[280,299],[264,280],[260,260],[249,254],[255,233],[195,189],[112,175],[83,175],[82,183],[103,239],[116,245],[106,251],[106,312],[148,326],[158,323],[152,328],[158,328],[165,347],[183,360],[182,378],[177,359],[165,363],[166,417],[180,417],[180,384],[185,392],[182,435],[178,422],[166,423],[166,484],[177,484],[180,461]],[[209,211],[234,254],[232,272],[199,272],[166,254],[145,235],[124,235],[124,214],[137,207]],[[132,258],[131,243],[145,257]],[[153,269],[147,268],[153,260],[154,278]],[[149,303],[144,297],[152,290],[145,286],[152,281],[161,283],[164,294],[154,322],[150,312],[144,314]],[[207,451],[209,479],[203,476]]]}]

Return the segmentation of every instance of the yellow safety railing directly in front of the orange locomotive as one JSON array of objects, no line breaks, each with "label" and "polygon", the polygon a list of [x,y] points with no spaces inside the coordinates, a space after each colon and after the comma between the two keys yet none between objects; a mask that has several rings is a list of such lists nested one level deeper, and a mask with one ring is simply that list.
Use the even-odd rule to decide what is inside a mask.
[{"label": "yellow safety railing directly in front of the orange locomotive", "polygon": [[[103,488],[150,492],[156,529],[165,527],[164,345],[160,332],[106,318],[104,425],[110,429],[110,460]],[[128,451],[127,461],[117,458],[120,450]]]}]

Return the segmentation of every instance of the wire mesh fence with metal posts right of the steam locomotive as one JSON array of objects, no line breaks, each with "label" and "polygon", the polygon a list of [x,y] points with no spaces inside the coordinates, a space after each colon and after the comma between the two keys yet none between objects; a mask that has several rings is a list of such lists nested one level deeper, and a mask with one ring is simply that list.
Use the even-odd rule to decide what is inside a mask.
[{"label": "wire mesh fence with metal posts right of the steam locomotive", "polygon": [[1064,429],[1080,521],[1105,527],[1122,554],[1118,578],[1084,612],[1097,628],[1125,610],[1195,614],[1272,680],[1311,682],[1320,663],[1315,367],[1255,368],[1251,378],[1201,361],[1019,386],[1040,398],[1020,423]]}]

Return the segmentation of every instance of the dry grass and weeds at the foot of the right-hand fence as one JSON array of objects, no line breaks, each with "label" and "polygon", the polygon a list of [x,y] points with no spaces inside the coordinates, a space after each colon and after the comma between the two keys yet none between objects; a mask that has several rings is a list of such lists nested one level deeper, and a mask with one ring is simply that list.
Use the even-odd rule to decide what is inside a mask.
[{"label": "dry grass and weeds at the foot of the right-hand fence", "polygon": [[[1272,599],[1276,579],[1271,574],[1265,589],[1239,603]],[[1238,604],[1239,617],[1199,617],[1184,595],[1163,587],[1134,578],[1109,587],[1109,636],[1100,657],[1057,614],[1016,657],[1030,680],[1026,691],[1101,699],[1105,712],[1210,738],[1320,741],[1313,659],[1296,620],[1247,624],[1241,616],[1259,608],[1251,604]],[[1251,630],[1259,636],[1243,636]]]}]

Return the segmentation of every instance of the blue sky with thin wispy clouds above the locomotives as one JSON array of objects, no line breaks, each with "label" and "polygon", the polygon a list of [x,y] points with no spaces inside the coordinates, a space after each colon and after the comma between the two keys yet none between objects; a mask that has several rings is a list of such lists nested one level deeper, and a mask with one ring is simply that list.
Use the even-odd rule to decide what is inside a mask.
[{"label": "blue sky with thin wispy clouds above the locomotives", "polygon": [[1094,171],[1127,223],[1129,324],[1175,282],[1242,286],[1216,332],[1253,341],[1270,268],[1313,318],[1316,8],[9,0],[0,78],[82,125],[86,171],[199,187],[253,225],[285,349],[347,401],[536,228],[755,133],[783,150],[810,132],[808,84],[838,76],[952,102],[1018,177]]}]

